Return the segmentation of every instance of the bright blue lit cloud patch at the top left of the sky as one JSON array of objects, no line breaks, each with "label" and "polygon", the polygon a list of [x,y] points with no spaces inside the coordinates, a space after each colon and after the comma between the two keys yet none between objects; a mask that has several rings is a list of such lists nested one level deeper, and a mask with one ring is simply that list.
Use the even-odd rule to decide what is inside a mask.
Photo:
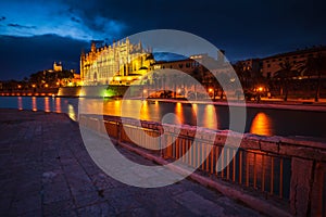
[{"label": "bright blue lit cloud patch at the top left of the sky", "polygon": [[[30,37],[54,34],[77,40],[120,37],[126,25],[109,17],[83,16],[59,2],[9,1],[0,3],[0,35]],[[4,17],[4,18],[2,18]]]}]

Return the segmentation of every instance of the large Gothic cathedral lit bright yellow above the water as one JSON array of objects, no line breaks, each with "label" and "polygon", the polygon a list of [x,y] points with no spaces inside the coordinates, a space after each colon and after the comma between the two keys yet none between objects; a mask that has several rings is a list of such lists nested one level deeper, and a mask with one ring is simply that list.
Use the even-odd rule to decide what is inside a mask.
[{"label": "large Gothic cathedral lit bright yellow above the water", "polygon": [[151,49],[128,38],[110,46],[97,48],[80,55],[80,78],[84,85],[130,85],[146,75],[154,63]]}]

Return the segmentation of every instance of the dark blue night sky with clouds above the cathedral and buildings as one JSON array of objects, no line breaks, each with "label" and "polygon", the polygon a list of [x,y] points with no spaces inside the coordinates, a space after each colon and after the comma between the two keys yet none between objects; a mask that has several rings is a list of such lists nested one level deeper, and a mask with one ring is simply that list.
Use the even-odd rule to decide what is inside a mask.
[{"label": "dark blue night sky with clouds above the cathedral and buildings", "polygon": [[326,44],[324,0],[1,1],[0,80],[61,61],[79,69],[90,40],[168,28],[198,35],[230,61]]}]

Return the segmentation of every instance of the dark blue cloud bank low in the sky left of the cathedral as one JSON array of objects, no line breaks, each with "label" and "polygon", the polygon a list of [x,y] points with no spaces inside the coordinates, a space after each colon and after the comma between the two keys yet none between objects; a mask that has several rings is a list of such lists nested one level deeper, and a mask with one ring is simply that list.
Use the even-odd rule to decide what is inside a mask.
[{"label": "dark blue cloud bank low in the sky left of the cathedral", "polygon": [[55,35],[36,37],[0,36],[0,80],[22,79],[32,73],[52,68],[61,61],[66,68],[79,68],[79,55],[89,43]]}]

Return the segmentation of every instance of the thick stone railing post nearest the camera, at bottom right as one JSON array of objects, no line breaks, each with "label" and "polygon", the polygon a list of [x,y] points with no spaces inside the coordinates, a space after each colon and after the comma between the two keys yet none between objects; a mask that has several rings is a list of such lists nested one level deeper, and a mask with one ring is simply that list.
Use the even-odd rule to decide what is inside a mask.
[{"label": "thick stone railing post nearest the camera, at bottom right", "polygon": [[309,216],[313,182],[313,161],[292,157],[290,208],[293,216]]}]

